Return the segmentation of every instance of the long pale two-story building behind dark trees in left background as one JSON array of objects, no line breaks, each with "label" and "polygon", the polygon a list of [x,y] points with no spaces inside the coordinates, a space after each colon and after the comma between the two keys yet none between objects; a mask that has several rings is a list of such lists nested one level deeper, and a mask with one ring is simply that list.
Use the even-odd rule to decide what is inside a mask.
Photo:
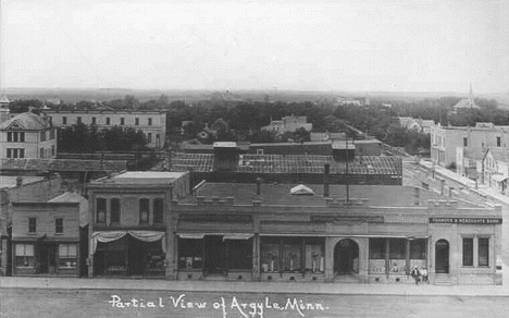
[{"label": "long pale two-story building behind dark trees in left background", "polygon": [[114,110],[99,106],[95,109],[44,109],[42,113],[55,127],[69,127],[77,123],[96,125],[99,130],[113,126],[141,131],[151,148],[164,147],[166,114],[156,110]]}]

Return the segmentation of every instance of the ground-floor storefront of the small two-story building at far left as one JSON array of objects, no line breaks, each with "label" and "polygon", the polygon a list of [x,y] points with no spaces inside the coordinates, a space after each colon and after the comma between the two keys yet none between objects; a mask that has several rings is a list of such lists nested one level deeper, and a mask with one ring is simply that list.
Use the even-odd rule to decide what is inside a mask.
[{"label": "ground-floor storefront of the small two-story building at far left", "polygon": [[78,274],[78,242],[14,241],[13,276]]}]

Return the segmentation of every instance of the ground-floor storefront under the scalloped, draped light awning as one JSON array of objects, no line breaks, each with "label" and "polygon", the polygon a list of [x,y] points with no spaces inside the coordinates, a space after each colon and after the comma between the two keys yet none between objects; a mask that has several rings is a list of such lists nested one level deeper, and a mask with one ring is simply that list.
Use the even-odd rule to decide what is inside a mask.
[{"label": "ground-floor storefront under the scalloped, draped light awning", "polygon": [[90,244],[97,277],[164,278],[164,232],[95,232]]}]

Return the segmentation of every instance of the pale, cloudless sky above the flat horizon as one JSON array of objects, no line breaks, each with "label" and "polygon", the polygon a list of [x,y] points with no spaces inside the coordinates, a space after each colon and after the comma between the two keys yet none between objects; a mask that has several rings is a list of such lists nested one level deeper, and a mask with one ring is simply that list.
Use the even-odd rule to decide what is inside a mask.
[{"label": "pale, cloudless sky above the flat horizon", "polygon": [[0,85],[509,93],[509,1],[0,0]]}]

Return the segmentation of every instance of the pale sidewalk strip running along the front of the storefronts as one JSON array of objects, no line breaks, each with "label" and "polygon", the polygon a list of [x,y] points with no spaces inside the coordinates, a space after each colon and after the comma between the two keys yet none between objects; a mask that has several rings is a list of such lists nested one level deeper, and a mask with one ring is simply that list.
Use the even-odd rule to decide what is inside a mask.
[{"label": "pale sidewalk strip running along the front of the storefronts", "polygon": [[206,282],[134,279],[1,277],[0,289],[138,290],[262,294],[505,296],[501,285]]}]

